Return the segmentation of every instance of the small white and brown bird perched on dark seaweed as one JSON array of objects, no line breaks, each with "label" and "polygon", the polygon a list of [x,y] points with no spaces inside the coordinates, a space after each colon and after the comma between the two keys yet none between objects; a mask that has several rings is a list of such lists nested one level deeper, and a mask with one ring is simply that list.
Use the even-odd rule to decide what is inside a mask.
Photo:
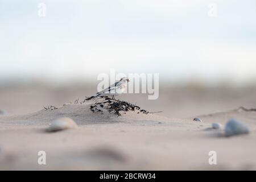
[{"label": "small white and brown bird perched on dark seaweed", "polygon": [[126,85],[129,81],[129,78],[122,77],[119,81],[115,82],[113,85],[110,85],[109,88],[101,90],[100,92],[96,93],[96,96],[88,97],[85,100],[91,100],[92,98],[102,96],[111,96],[115,100],[114,96],[117,96],[125,92]]}]

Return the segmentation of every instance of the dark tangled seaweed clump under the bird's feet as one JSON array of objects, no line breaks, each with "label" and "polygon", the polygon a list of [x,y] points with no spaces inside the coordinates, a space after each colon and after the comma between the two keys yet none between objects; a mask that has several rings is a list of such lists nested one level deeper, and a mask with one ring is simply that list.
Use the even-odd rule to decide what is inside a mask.
[{"label": "dark tangled seaweed clump under the bird's feet", "polygon": [[103,100],[96,101],[95,104],[90,106],[90,110],[93,113],[100,112],[101,114],[103,114],[103,109],[106,109],[109,111],[109,113],[114,113],[117,116],[121,115],[120,111],[138,111],[138,113],[143,114],[149,113],[148,111],[141,109],[141,107],[134,104],[130,104],[126,101],[115,100],[114,98],[110,98],[108,96],[104,96],[101,98],[103,98]]}]

